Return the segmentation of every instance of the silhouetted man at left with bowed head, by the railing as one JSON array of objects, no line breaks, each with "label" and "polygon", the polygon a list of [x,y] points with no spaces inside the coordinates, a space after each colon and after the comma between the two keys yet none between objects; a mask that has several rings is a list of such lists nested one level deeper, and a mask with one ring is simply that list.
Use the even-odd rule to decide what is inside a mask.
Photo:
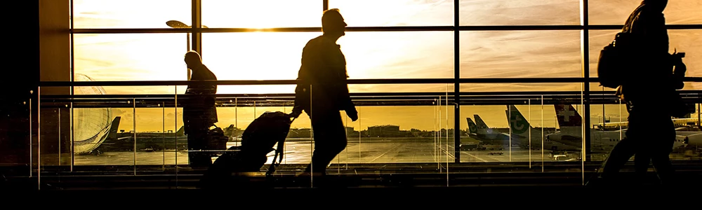
[{"label": "silhouetted man at left with bowed head, by the railing", "polygon": [[[217,80],[210,69],[202,64],[200,55],[195,51],[185,53],[185,64],[192,70],[191,81]],[[189,99],[183,103],[183,124],[187,134],[189,151],[204,150],[208,144],[207,132],[218,122],[217,109],[213,95],[217,93],[217,85],[187,85],[185,94]],[[209,167],[212,164],[211,155],[206,152],[189,152],[191,167]]]}]

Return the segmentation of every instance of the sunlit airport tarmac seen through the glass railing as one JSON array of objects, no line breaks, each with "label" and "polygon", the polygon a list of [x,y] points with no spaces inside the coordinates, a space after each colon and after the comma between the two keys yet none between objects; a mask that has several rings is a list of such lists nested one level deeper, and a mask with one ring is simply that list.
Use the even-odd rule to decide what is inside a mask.
[{"label": "sunlit airport tarmac seen through the glass railing", "polygon": [[[237,143],[229,142],[227,146]],[[446,149],[448,148],[448,149]],[[343,163],[427,163],[453,162],[453,142],[449,141],[353,141],[339,153],[332,164]],[[282,164],[307,164],[311,160],[312,141],[288,141]],[[446,151],[449,151],[446,153]],[[268,163],[274,153],[269,153]],[[673,160],[680,155],[671,155]],[[530,158],[531,157],[531,158]],[[568,153],[555,160],[550,151],[529,151],[518,147],[503,151],[461,151],[461,162],[553,162],[579,161],[578,153]],[[604,160],[604,154],[595,154],[593,160]],[[575,159],[575,160],[574,160]],[[216,158],[213,158],[216,160]],[[76,155],[75,165],[187,165],[187,153],[176,151],[106,152],[100,155]]]}]

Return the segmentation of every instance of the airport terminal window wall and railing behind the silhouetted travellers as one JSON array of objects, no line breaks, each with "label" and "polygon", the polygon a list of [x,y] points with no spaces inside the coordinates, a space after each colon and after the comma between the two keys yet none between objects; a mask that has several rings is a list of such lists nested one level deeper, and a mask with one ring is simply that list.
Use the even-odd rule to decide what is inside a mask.
[{"label": "airport terminal window wall and railing behind the silhouetted travellers", "polygon": [[[215,125],[225,148],[239,148],[253,120],[293,110],[303,48],[323,34],[330,8],[347,24],[336,44],[358,113],[339,112],[347,144],[326,169],[333,179],[294,181],[317,148],[305,112],[279,147],[280,165],[265,173],[270,151],[248,183],[582,187],[628,128],[625,102],[600,86],[597,62],[641,3],[16,2],[28,23],[12,26],[26,32],[22,41],[8,41],[22,61],[6,71],[0,167],[6,186],[35,190],[199,188],[207,169],[191,167],[189,154],[226,156],[188,146],[183,105],[196,83],[185,53],[198,52],[216,75]],[[687,52],[678,92],[696,110],[673,119],[670,160],[684,177],[702,174],[699,10],[699,1],[670,1],[664,11],[670,52]],[[623,176],[633,176],[634,160]],[[651,167],[647,183],[655,174]]]}]

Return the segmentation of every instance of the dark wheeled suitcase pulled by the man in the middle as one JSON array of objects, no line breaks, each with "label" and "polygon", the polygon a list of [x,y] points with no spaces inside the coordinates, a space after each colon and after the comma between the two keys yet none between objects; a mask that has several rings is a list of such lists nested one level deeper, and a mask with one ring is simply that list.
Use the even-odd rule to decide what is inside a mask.
[{"label": "dark wheeled suitcase pulled by the man in the middle", "polygon": [[[241,135],[241,146],[232,146],[203,174],[200,188],[244,187],[247,177],[233,173],[260,172],[267,161],[266,155],[275,151],[272,164],[266,172],[270,176],[283,159],[283,146],[293,122],[280,111],[266,112],[251,122]],[[277,148],[273,148],[277,144]],[[278,159],[278,160],[276,160]]]}]

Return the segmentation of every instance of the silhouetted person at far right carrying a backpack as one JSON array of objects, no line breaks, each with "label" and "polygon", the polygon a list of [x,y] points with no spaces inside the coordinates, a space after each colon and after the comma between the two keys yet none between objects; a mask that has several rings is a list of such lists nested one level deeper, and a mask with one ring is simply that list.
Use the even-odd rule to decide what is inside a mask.
[{"label": "silhouetted person at far right carrying a backpack", "polygon": [[663,10],[667,0],[644,0],[626,22],[630,30],[630,69],[632,72],[618,90],[628,117],[626,137],[612,149],[600,176],[611,183],[633,155],[640,179],[653,162],[663,184],[671,181],[673,166],[669,155],[675,142],[671,120],[671,98],[682,80],[673,76],[673,59],[668,52],[668,30]]}]

